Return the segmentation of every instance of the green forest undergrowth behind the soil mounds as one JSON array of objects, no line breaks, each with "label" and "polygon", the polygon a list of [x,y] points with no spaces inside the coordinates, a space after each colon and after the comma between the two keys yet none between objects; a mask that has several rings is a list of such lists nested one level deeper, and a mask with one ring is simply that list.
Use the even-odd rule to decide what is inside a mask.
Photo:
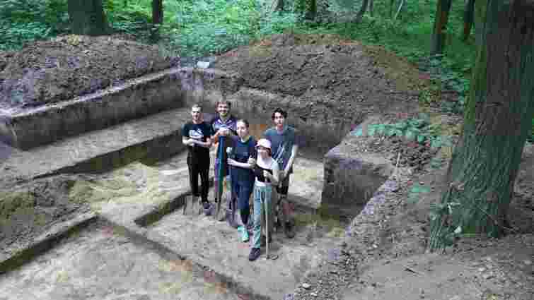
[{"label": "green forest undergrowth behind the soil mounds", "polygon": [[[167,55],[202,57],[226,52],[266,35],[291,30],[297,33],[335,33],[364,44],[380,44],[417,64],[429,73],[433,90],[452,90],[458,102],[441,102],[445,112],[463,111],[469,90],[475,54],[474,34],[460,40],[463,5],[454,3],[448,20],[445,52],[429,56],[436,0],[407,1],[397,19],[391,17],[391,1],[375,0],[374,13],[361,23],[351,22],[361,0],[319,0],[316,22],[303,22],[293,13],[293,1],[286,11],[272,13],[264,0],[163,1],[164,19],[158,44]],[[151,40],[151,0],[103,0],[113,32],[131,35],[140,42]],[[25,42],[68,34],[66,0],[0,0],[0,50],[20,49]],[[422,93],[422,105],[439,97]],[[534,119],[533,119],[534,129]],[[534,140],[534,138],[530,138]]]}]

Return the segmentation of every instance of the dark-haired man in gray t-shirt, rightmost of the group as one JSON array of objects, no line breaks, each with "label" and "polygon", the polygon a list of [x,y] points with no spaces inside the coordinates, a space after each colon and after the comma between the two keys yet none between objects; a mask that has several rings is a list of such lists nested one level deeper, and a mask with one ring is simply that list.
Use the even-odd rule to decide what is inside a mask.
[{"label": "dark-haired man in gray t-shirt, rightmost of the group", "polygon": [[298,131],[285,124],[287,112],[277,108],[272,113],[272,121],[274,127],[267,129],[263,134],[267,140],[271,142],[272,158],[278,162],[280,168],[279,181],[277,186],[277,193],[279,194],[279,204],[286,216],[284,224],[284,232],[287,237],[295,236],[294,232],[294,217],[291,206],[287,200],[287,192],[289,191],[289,175],[293,173],[293,163],[295,161],[298,145],[300,145],[300,138]]}]

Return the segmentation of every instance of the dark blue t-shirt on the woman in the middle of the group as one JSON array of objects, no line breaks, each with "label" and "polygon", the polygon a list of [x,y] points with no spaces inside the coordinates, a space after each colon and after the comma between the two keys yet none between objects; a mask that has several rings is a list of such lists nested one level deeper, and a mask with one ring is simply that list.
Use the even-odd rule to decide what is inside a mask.
[{"label": "dark blue t-shirt on the woman in the middle of the group", "polygon": [[[237,162],[248,162],[250,157],[256,159],[256,140],[250,136],[246,142],[243,143],[238,136],[232,136],[233,148],[230,154],[230,158]],[[240,181],[243,183],[253,183],[254,172],[252,169],[245,169],[241,167],[231,167],[232,180]]]}]

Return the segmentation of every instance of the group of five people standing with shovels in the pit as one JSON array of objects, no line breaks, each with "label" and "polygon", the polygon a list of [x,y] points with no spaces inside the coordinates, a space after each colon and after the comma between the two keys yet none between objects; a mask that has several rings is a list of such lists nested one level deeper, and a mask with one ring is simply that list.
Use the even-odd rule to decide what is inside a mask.
[{"label": "group of five people standing with shovels in the pit", "polygon": [[[228,200],[228,205],[236,206],[228,208],[232,211],[228,220],[231,224],[236,224],[233,222],[233,210],[237,209],[241,219],[241,225],[237,226],[237,229],[243,242],[249,241],[249,199],[253,195],[253,241],[248,257],[253,261],[260,256],[261,247],[267,242],[262,229],[269,236],[269,242],[272,239],[273,226],[283,227],[286,236],[294,237],[294,217],[287,193],[289,176],[293,172],[298,151],[298,131],[286,125],[287,113],[277,108],[272,112],[274,126],[268,128],[260,140],[255,140],[250,136],[249,122],[231,115],[231,102],[217,102],[216,111],[216,117],[206,122],[202,119],[202,107],[195,104],[191,109],[192,121],[182,128],[182,143],[188,148],[187,166],[192,196],[201,198],[206,214],[211,212],[213,205],[208,199],[209,148],[212,143],[217,143],[219,149],[214,168],[215,186],[218,186],[217,181],[224,177],[231,183],[231,199]],[[224,143],[219,143],[221,138],[224,138]],[[217,188],[215,191],[214,202],[221,199]],[[274,195],[277,196],[273,197]],[[280,215],[275,222],[274,215],[278,208]],[[265,211],[269,228],[262,224]]]}]

